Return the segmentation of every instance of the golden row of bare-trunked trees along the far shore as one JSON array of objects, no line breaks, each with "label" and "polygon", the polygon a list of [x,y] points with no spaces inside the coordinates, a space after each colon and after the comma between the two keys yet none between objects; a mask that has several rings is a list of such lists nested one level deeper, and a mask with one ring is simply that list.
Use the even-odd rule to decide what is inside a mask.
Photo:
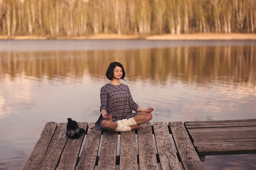
[{"label": "golden row of bare-trunked trees along the far shore", "polygon": [[255,0],[0,0],[0,35],[256,33]]}]

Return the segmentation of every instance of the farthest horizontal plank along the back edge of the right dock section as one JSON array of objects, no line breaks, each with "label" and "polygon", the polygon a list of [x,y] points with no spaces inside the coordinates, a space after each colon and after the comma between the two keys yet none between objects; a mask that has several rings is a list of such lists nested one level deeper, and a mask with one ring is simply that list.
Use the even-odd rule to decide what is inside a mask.
[{"label": "farthest horizontal plank along the back edge of the right dock section", "polygon": [[185,126],[200,126],[200,125],[210,125],[210,126],[256,126],[256,119],[244,119],[244,120],[218,120],[218,121],[186,121]]}]

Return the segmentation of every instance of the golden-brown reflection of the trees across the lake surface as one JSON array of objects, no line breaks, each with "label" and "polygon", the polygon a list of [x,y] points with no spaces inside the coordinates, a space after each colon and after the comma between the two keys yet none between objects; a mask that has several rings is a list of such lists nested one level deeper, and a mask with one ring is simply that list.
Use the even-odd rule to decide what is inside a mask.
[{"label": "golden-brown reflection of the trees across the lake surface", "polygon": [[255,86],[255,46],[177,47],[120,51],[4,52],[0,77],[20,74],[40,78],[90,76],[104,78],[110,62],[119,61],[132,81],[150,79],[165,84],[179,79],[198,86],[207,81],[249,83]]}]

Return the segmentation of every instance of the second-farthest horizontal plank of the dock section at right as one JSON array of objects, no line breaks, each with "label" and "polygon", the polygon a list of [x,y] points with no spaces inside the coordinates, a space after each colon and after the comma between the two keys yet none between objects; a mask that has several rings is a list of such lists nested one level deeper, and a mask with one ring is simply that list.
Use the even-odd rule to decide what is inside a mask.
[{"label": "second-farthest horizontal plank of the dock section at right", "polygon": [[231,127],[211,127],[211,128],[188,128],[189,132],[216,132],[216,131],[248,131],[256,130],[256,126],[231,126]]}]

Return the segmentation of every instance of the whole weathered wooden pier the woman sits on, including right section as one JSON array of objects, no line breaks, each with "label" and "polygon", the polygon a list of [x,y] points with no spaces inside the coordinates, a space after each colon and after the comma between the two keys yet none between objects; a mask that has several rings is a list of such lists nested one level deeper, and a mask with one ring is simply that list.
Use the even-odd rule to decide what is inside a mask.
[{"label": "whole weathered wooden pier the woman sits on, including right section", "polygon": [[65,135],[67,123],[47,122],[23,170],[203,170],[205,155],[256,153],[256,119],[147,122],[129,132]]}]

